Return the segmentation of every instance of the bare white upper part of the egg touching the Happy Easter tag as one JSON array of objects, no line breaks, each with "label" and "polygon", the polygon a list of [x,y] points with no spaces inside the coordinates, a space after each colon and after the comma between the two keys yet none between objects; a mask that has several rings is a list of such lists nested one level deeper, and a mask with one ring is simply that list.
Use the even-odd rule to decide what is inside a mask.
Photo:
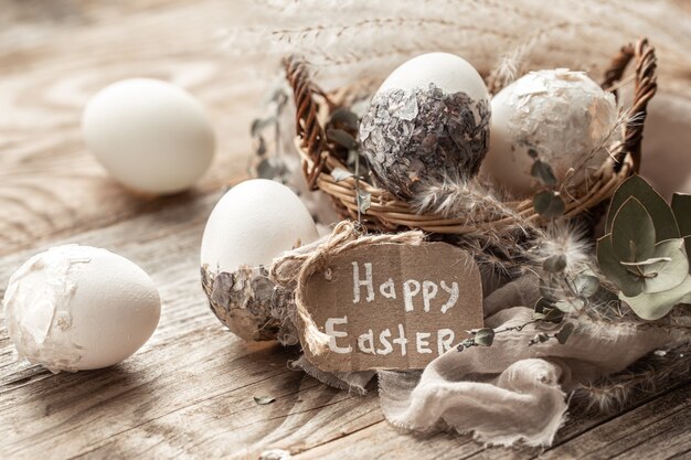
[{"label": "bare white upper part of the egg touching the Happy Easter tag", "polygon": [[279,254],[317,238],[309,211],[290,189],[253,179],[216,203],[204,228],[201,264],[214,272],[268,267]]}]

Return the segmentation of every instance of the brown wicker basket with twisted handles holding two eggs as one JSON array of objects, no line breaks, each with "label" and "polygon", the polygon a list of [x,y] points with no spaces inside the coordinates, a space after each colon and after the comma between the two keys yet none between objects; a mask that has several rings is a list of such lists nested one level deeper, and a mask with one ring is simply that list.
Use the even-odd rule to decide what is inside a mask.
[{"label": "brown wicker basket with twisted handles holding two eggs", "polygon": [[[635,122],[624,126],[624,140],[616,147],[614,154],[598,170],[576,184],[573,191],[562,196],[566,204],[565,217],[574,217],[607,201],[617,186],[640,168],[640,143],[646,108],[657,89],[655,51],[646,39],[639,40],[636,45],[621,47],[613,58],[602,87],[612,90],[616,96],[624,72],[631,61],[636,65],[630,108]],[[339,160],[327,142],[323,122],[334,109],[348,106],[355,95],[371,92],[372,82],[360,82],[326,94],[310,79],[305,61],[289,57],[285,61],[285,66],[297,108],[296,145],[302,158],[304,173],[310,189],[327,193],[342,217],[353,220],[360,217],[369,228],[383,232],[421,228],[429,233],[456,235],[482,232],[489,227],[501,229],[511,223],[511,217],[507,216],[495,216],[488,221],[475,221],[469,224],[465,217],[447,218],[435,214],[419,214],[406,202],[383,189],[363,181],[357,183],[354,176],[337,181],[330,172],[337,168],[348,170],[348,167]],[[488,86],[492,90],[498,89],[496,85]],[[371,194],[371,206],[363,215],[358,213],[357,190]],[[538,225],[541,223],[541,216],[533,208],[532,200],[507,202],[504,205],[521,218]]]}]

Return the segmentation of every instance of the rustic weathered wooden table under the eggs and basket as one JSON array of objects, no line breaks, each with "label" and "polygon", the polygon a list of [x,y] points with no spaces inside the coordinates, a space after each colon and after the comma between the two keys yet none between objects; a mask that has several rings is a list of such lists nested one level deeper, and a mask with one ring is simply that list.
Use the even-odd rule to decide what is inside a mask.
[{"label": "rustic weathered wooden table under the eggs and basket", "polygon": [[[120,2],[117,2],[120,3]],[[230,2],[0,0],[0,285],[31,254],[78,242],[140,264],[160,287],[161,322],[111,368],[53,375],[15,362],[0,322],[0,458],[691,458],[691,382],[616,416],[577,415],[546,451],[485,448],[467,436],[396,432],[365,397],[289,371],[291,355],[246,344],[211,314],[200,288],[201,232],[223,186],[245,175],[254,107],[266,82],[228,62],[214,30]],[[86,152],[79,113],[128,76],[190,88],[216,121],[220,151],[181,195],[134,196]],[[0,290],[0,295],[3,291]],[[253,397],[270,395],[258,406]]]}]

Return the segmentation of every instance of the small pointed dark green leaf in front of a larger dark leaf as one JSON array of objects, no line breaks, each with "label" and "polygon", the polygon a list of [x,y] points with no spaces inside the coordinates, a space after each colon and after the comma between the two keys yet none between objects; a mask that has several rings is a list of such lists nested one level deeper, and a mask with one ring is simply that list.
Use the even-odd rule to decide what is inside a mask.
[{"label": "small pointed dark green leaf in front of a larger dark leaf", "polygon": [[620,261],[652,257],[655,225],[642,204],[631,196],[617,211],[612,224],[612,245]]}]

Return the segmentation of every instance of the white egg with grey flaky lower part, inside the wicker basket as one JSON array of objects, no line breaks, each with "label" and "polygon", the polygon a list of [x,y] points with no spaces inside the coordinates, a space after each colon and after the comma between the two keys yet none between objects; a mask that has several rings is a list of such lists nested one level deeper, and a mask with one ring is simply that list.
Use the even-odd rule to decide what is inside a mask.
[{"label": "white egg with grey flaky lower part, inside the wicker basket", "polygon": [[490,105],[478,72],[448,53],[414,57],[372,97],[360,124],[378,182],[413,197],[427,182],[475,175],[489,146]]}]

